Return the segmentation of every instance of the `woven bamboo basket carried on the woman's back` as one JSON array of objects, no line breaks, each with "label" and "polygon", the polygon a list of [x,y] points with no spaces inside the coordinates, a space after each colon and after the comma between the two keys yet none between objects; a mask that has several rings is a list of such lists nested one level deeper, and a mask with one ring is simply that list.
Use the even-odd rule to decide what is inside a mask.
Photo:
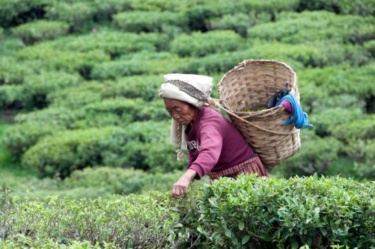
[{"label": "woven bamboo basket carried on the woman's back", "polygon": [[290,119],[290,113],[283,106],[267,109],[267,100],[285,88],[286,82],[299,102],[297,75],[283,62],[244,60],[219,82],[223,110],[268,168],[293,156],[301,147],[294,123],[281,126]]}]

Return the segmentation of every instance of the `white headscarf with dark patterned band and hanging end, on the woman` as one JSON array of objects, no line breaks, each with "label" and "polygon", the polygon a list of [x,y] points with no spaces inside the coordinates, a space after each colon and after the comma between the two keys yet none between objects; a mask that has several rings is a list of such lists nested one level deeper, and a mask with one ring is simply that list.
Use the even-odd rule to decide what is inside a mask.
[{"label": "white headscarf with dark patterned band and hanging end, on the woman", "polygon": [[[211,100],[213,81],[211,77],[196,74],[171,73],[164,75],[164,81],[159,90],[159,96],[162,98],[177,99],[192,104],[198,109]],[[171,143],[186,147],[186,138],[184,135],[186,126],[179,126],[178,122],[172,119]],[[179,141],[178,138],[181,140]],[[182,160],[180,147],[178,148],[178,160]]]}]

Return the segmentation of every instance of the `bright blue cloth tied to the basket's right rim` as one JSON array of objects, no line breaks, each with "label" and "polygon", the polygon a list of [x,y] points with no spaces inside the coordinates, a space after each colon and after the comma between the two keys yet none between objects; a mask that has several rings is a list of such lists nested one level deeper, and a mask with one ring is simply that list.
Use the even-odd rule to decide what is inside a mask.
[{"label": "bright blue cloth tied to the basket's right rim", "polygon": [[308,123],[308,114],[306,112],[303,112],[301,106],[298,104],[297,99],[291,95],[287,94],[284,97],[282,97],[279,102],[277,102],[276,106],[279,106],[283,100],[288,100],[290,104],[292,104],[293,107],[293,116],[288,119],[287,121],[281,123],[282,126],[286,126],[292,122],[294,122],[295,128],[310,128],[312,127],[311,123]]}]

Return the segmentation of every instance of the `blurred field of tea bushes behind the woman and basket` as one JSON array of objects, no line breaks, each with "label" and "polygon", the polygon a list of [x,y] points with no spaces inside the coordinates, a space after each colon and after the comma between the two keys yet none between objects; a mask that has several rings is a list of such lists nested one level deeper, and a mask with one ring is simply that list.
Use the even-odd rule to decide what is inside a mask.
[{"label": "blurred field of tea bushes behind the woman and basket", "polygon": [[169,190],[186,162],[162,75],[210,75],[218,98],[245,59],[289,64],[314,124],[270,174],[374,180],[374,15],[373,0],[0,0],[0,185],[41,200]]}]

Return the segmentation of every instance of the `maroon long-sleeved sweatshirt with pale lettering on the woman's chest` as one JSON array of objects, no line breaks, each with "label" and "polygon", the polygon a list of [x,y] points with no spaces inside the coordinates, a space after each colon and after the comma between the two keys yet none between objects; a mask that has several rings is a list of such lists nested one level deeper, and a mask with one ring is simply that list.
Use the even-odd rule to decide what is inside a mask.
[{"label": "maroon long-sleeved sweatshirt with pale lettering on the woman's chest", "polygon": [[189,162],[200,179],[209,171],[222,171],[254,154],[239,130],[219,112],[204,106],[193,126],[185,131]]}]

